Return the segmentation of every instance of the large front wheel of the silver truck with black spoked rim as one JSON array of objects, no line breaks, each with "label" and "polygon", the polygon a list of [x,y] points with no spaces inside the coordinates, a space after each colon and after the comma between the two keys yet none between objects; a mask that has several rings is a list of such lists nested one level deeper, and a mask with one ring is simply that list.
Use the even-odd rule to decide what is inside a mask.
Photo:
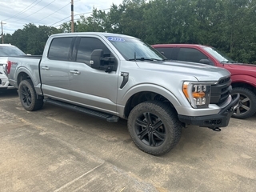
[{"label": "large front wheel of the silver truck with black spoked rim", "polygon": [[182,134],[182,123],[169,105],[148,101],[131,110],[128,130],[140,150],[148,154],[162,155],[178,143]]}]

